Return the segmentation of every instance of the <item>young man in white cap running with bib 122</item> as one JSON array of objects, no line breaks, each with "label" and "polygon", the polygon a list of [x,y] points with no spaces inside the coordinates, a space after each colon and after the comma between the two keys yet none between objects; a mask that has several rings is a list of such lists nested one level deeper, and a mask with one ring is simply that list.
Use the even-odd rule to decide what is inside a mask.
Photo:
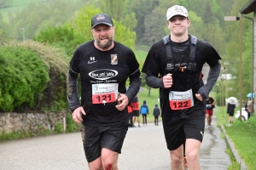
[{"label": "young man in white cap running with bib 122", "polygon": [[[204,101],[218,79],[220,57],[208,42],[189,35],[188,10],[175,5],[166,12],[170,35],[150,48],[143,65],[146,82],[160,88],[160,108],[172,170],[183,169],[183,144],[189,169],[201,169],[199,150],[205,129]],[[200,87],[201,70],[210,71]]]}]

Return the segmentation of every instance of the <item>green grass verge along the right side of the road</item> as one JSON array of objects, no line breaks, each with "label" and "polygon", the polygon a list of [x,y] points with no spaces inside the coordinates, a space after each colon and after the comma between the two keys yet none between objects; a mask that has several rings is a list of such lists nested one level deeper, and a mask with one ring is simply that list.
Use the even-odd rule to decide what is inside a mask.
[{"label": "green grass verge along the right side of the road", "polygon": [[[236,119],[234,124],[227,126],[230,122],[229,116],[225,112],[225,107],[216,107],[218,126],[224,125],[226,133],[235,144],[239,156],[245,162],[248,169],[256,169],[256,156],[254,154],[256,152],[256,116],[252,116],[245,122]],[[228,148],[227,150],[230,149]],[[233,156],[230,154],[230,151],[227,151],[227,153],[232,160]],[[240,169],[240,162],[236,162],[236,160],[233,159],[229,169]]]}]

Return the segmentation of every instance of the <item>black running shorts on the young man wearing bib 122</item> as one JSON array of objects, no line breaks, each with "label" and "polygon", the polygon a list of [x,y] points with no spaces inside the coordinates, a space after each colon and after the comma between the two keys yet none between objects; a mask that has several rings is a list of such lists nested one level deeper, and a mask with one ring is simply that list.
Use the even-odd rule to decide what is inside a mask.
[{"label": "black running shorts on the young man wearing bib 122", "polygon": [[176,150],[186,139],[202,141],[205,130],[205,111],[191,112],[189,118],[162,120],[168,150]]}]

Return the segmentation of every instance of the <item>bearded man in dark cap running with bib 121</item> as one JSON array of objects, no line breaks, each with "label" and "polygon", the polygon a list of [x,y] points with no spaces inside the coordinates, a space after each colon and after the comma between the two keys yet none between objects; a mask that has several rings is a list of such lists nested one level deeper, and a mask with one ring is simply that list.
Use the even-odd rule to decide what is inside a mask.
[{"label": "bearded man in dark cap running with bib 121", "polygon": [[[90,169],[115,170],[129,126],[127,105],[141,84],[139,64],[130,48],[113,40],[113,21],[108,14],[93,16],[91,29],[94,40],[79,45],[69,62],[67,102],[73,121],[82,122]],[[128,78],[130,87],[126,91]]]}]

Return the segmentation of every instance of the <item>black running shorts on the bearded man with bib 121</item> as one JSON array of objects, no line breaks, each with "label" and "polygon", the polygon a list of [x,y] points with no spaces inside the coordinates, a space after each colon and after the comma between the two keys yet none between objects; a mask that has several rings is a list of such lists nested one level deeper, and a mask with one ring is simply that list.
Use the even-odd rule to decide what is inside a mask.
[{"label": "black running shorts on the bearded man with bib 121", "polygon": [[87,127],[82,125],[81,135],[85,158],[88,162],[101,156],[102,148],[121,153],[128,126],[110,125],[109,127]]}]

